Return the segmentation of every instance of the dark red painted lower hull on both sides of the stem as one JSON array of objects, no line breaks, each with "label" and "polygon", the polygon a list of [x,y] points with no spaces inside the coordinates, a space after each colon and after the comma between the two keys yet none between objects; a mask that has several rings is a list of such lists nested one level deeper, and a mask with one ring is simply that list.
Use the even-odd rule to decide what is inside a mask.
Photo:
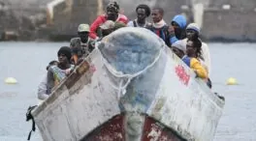
[{"label": "dark red painted lower hull on both sides of the stem", "polygon": [[[144,116],[143,132],[140,141],[184,141],[173,129],[148,116]],[[125,114],[120,114],[94,129],[80,141],[127,141],[125,135]]]}]

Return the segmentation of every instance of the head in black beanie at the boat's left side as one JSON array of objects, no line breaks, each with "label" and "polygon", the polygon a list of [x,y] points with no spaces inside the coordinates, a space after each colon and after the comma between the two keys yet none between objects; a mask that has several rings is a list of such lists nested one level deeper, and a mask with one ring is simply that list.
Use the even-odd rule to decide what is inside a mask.
[{"label": "head in black beanie at the boat's left side", "polygon": [[72,53],[71,48],[68,46],[62,46],[58,50],[58,62],[59,65],[65,66],[67,64],[70,64]]}]

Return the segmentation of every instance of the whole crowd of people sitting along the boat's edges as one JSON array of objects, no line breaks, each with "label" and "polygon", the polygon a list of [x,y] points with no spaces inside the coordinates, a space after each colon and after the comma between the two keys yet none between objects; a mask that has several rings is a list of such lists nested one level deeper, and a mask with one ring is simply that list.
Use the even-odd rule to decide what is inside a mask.
[{"label": "whole crowd of people sitting along the boat's edges", "polygon": [[[196,23],[187,24],[186,17],[177,14],[169,24],[163,19],[162,8],[150,9],[144,4],[135,9],[137,18],[134,20],[128,20],[127,16],[119,13],[119,9],[116,2],[110,2],[106,14],[98,15],[91,25],[80,24],[78,38],[72,39],[70,46],[60,47],[57,52],[58,61],[51,61],[48,64],[47,76],[38,88],[38,99],[47,99],[52,88],[69,75],[94,49],[95,42],[101,41],[114,30],[126,26],[146,28],[155,33],[195,71],[198,77],[206,80],[208,87],[211,88],[208,45],[201,41],[200,27]],[[152,18],[152,23],[147,20],[149,16]]]}]

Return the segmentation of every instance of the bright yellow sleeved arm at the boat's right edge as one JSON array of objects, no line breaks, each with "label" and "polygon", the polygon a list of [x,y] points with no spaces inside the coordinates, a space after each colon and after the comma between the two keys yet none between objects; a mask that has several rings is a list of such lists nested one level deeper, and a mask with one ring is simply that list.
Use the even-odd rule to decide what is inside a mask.
[{"label": "bright yellow sleeved arm at the boat's right edge", "polygon": [[200,78],[208,78],[208,72],[207,70],[201,65],[201,63],[195,59],[192,58],[190,61],[190,68],[197,73],[197,76]]}]

